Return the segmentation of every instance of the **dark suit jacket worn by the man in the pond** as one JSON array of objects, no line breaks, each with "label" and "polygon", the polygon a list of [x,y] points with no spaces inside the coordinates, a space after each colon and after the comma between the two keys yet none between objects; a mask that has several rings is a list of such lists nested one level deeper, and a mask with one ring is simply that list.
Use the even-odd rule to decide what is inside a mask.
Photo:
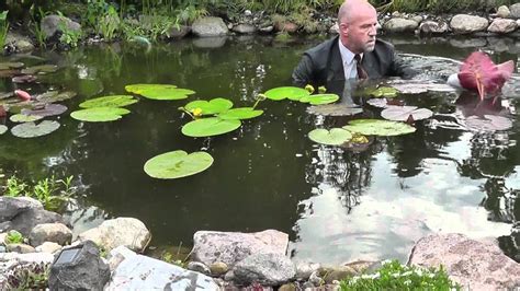
[{"label": "dark suit jacket worn by the man in the pond", "polygon": [[[305,51],[293,71],[293,83],[304,86],[326,85],[332,81],[344,81],[343,63],[338,47],[339,36]],[[395,54],[394,46],[376,39],[373,51],[364,53],[361,65],[369,79],[383,77],[403,77],[409,79],[417,72],[404,66]]]}]

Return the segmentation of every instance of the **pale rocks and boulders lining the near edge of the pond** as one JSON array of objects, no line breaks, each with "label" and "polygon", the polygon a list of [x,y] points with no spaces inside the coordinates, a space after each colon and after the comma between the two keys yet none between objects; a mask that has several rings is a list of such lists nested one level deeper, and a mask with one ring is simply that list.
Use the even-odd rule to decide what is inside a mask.
[{"label": "pale rocks and boulders lining the near edge of the pond", "polygon": [[[182,290],[196,286],[202,290],[337,290],[341,279],[362,276],[384,264],[293,261],[287,255],[289,235],[265,230],[199,231],[193,236],[190,261],[179,266],[139,254],[148,246],[151,233],[137,219],[105,220],[72,237],[69,223],[60,214],[45,210],[32,198],[0,197],[0,290],[26,287],[21,282],[29,275],[34,278],[45,270],[50,270],[45,280],[54,287],[86,289]],[[12,230],[26,238],[9,243],[8,232]],[[58,266],[63,249],[79,248],[89,256]],[[416,242],[407,264],[423,268],[442,265],[453,281],[472,290],[520,287],[520,265],[504,255],[491,238],[432,234]],[[97,279],[86,279],[84,273]]]}]

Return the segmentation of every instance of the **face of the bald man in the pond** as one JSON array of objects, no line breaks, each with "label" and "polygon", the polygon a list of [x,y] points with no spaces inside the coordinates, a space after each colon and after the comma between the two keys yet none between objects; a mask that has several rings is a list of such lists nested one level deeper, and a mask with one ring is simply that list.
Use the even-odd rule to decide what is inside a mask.
[{"label": "face of the bald man in the pond", "polygon": [[349,22],[340,23],[341,42],[354,54],[374,50],[377,33],[377,13],[372,7],[362,7]]}]

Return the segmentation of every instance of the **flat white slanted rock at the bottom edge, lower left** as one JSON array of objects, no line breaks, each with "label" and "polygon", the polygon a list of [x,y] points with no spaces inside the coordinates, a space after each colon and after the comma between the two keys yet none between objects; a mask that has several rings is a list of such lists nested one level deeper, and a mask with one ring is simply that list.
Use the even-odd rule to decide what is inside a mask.
[{"label": "flat white slanted rock at the bottom edge, lower left", "polygon": [[212,278],[143,255],[129,255],[104,290],[218,290]]}]

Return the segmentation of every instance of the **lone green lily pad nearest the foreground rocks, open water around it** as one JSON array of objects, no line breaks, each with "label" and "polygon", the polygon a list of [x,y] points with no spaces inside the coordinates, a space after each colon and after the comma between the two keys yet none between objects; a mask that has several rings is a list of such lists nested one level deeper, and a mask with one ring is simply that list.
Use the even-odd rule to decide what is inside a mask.
[{"label": "lone green lily pad nearest the foreground rocks, open water around it", "polygon": [[212,164],[213,158],[206,152],[172,151],[151,158],[144,170],[154,178],[182,178],[201,173]]}]

